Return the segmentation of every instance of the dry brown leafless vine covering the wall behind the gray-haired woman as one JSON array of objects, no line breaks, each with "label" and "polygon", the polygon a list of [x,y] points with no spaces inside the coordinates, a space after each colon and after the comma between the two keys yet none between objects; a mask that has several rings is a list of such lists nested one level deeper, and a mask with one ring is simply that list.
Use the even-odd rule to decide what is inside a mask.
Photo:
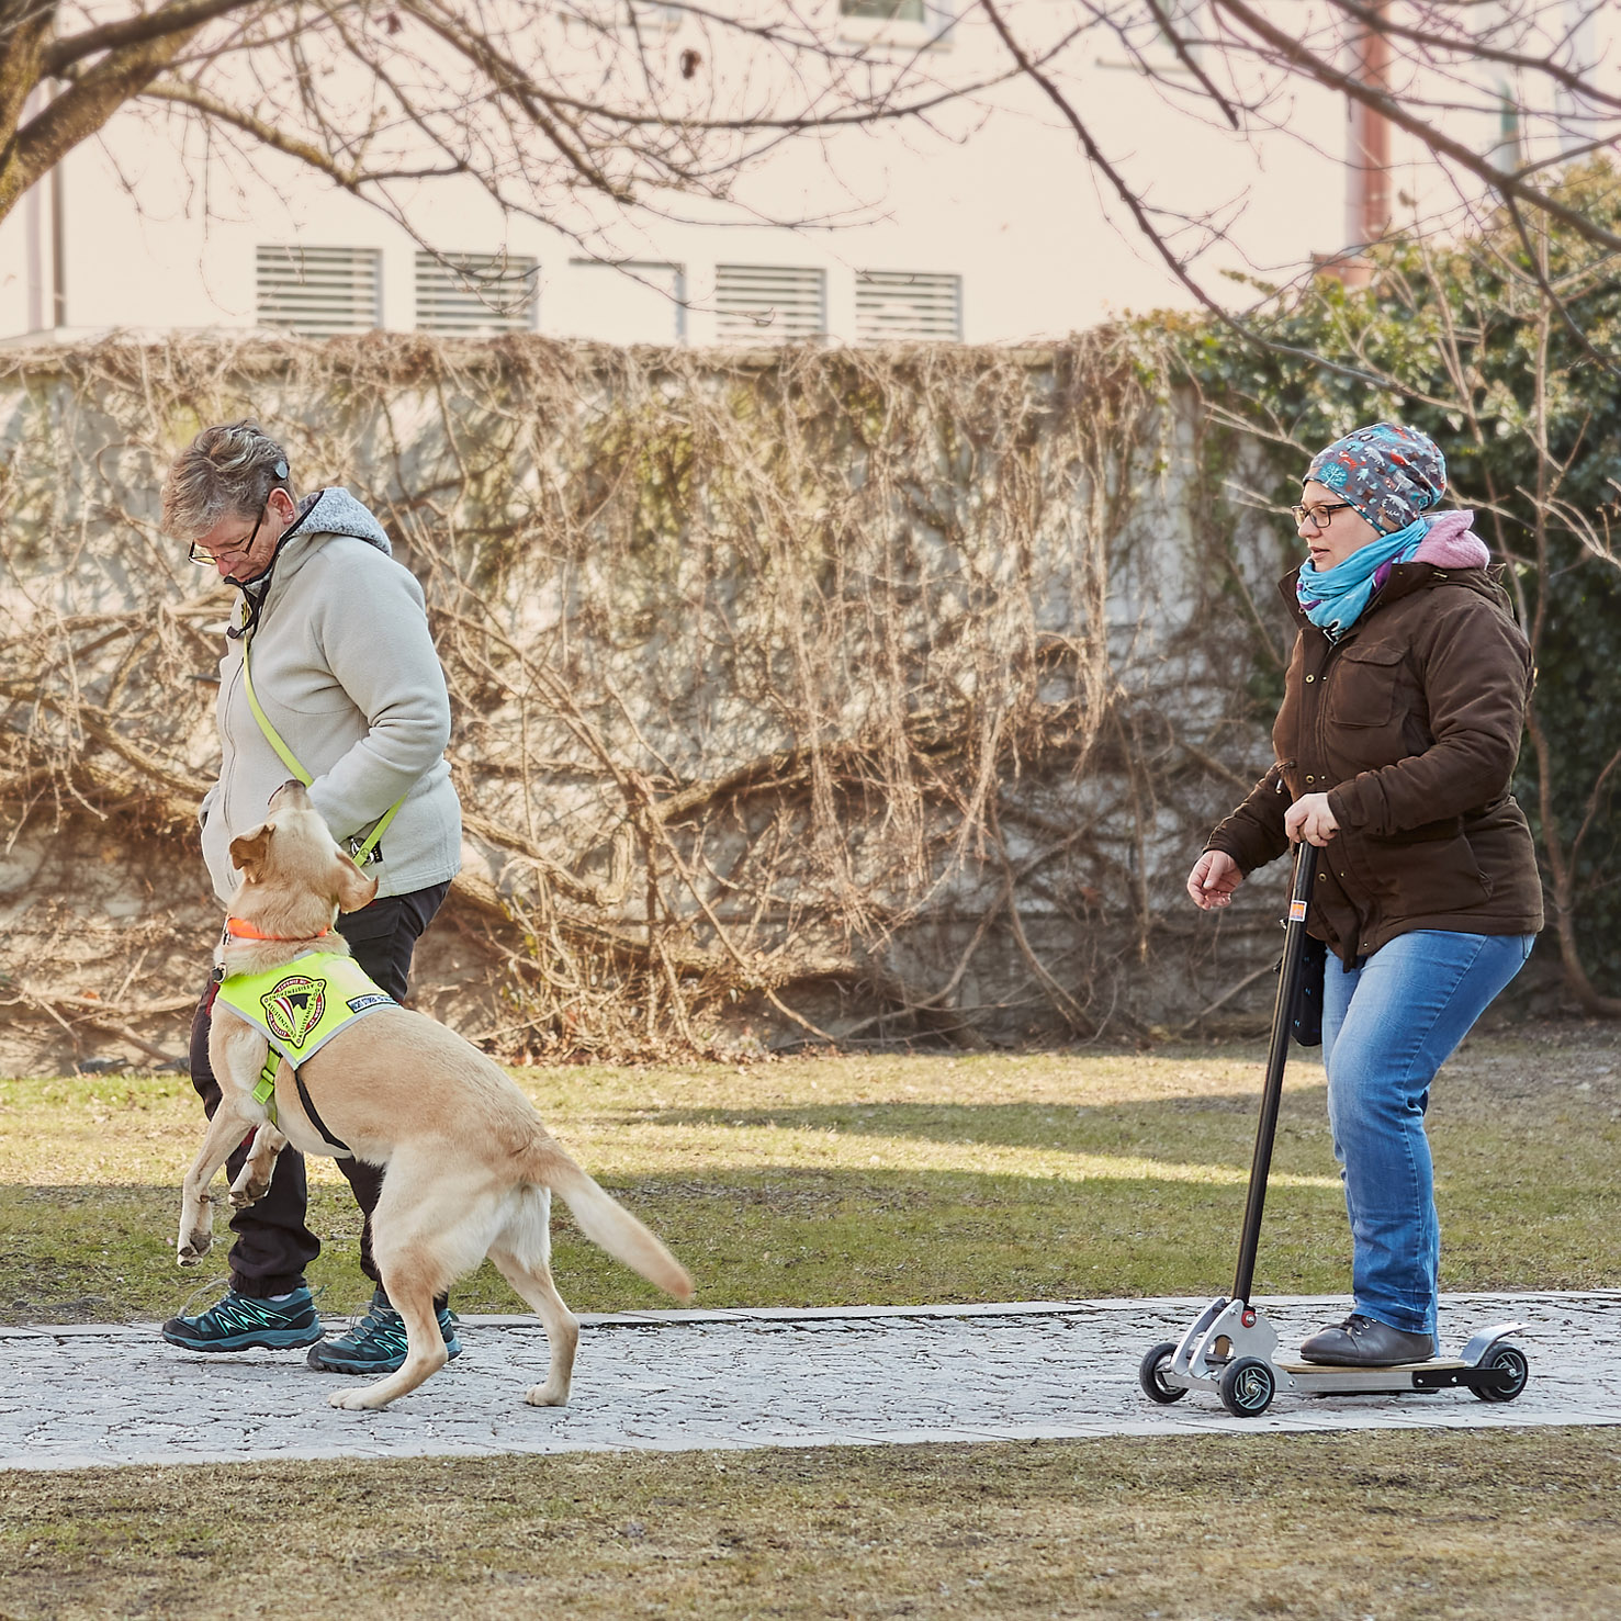
[{"label": "dry brown leafless vine covering the wall behind the gray-haired woman", "polygon": [[[251,412],[428,592],[475,858],[447,917],[493,969],[460,1021],[493,1050],[1185,1015],[1209,987],[1167,875],[1256,744],[1242,694],[1206,700],[1250,653],[1177,566],[1172,473],[1201,460],[1148,344],[8,357],[3,836],[191,859],[229,592],[157,533],[157,486]],[[36,935],[41,885],[11,895]],[[183,1002],[165,971],[92,992],[104,1028]],[[10,973],[15,1008],[66,1016]]]}]

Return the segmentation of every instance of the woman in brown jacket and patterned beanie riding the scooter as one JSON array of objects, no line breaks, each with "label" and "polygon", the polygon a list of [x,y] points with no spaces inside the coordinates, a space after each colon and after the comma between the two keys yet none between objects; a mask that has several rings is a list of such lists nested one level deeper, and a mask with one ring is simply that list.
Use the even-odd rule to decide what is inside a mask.
[{"label": "woman in brown jacket and patterned beanie riding the scooter", "polygon": [[1358,428],[1313,457],[1294,509],[1310,559],[1282,582],[1300,631],[1277,763],[1188,875],[1209,909],[1290,843],[1321,851],[1308,932],[1331,953],[1323,1062],[1355,1302],[1305,1341],[1308,1362],[1435,1354],[1430,1083],[1542,927],[1509,793],[1530,650],[1472,514],[1431,511],[1444,490],[1412,428]]}]

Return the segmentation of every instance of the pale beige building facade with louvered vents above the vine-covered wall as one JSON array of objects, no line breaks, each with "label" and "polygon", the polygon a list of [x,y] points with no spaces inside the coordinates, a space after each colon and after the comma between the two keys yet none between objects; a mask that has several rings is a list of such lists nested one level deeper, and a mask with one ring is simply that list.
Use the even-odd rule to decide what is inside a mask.
[{"label": "pale beige building facade with louvered vents above the vine-covered wall", "polygon": [[[692,49],[699,24],[682,10],[605,0],[632,3],[637,26],[657,24],[655,49]],[[917,83],[1005,70],[987,18],[950,3],[810,0],[806,13],[846,55],[914,60]],[[1002,10],[1047,44],[1073,8]],[[1213,29],[1206,0],[1170,10],[1188,37]],[[1269,10],[1298,23],[1313,5]],[[1224,302],[1247,305],[1256,280],[1289,282],[1354,250],[1370,219],[1446,227],[1467,216],[1470,199],[1412,141],[1370,126],[1344,96],[1294,84],[1232,130],[1200,94],[1198,50],[1185,68],[1169,41],[1133,39],[1135,60],[1107,36],[1081,36],[1060,55],[1060,83],[1170,251]],[[1211,49],[1200,47],[1206,60]],[[1368,70],[1358,49],[1347,42],[1345,60]],[[1451,126],[1482,152],[1517,139],[1491,113],[1495,71],[1473,75],[1475,105]],[[1501,99],[1511,107],[1506,81]],[[415,237],[290,157],[230,159],[173,115],[123,112],[0,222],[0,339],[383,327],[614,344],[1020,344],[1196,302],[1028,78],[927,125],[783,143],[729,209],[564,212],[559,229],[503,214],[465,177],[420,183],[405,209]]]}]

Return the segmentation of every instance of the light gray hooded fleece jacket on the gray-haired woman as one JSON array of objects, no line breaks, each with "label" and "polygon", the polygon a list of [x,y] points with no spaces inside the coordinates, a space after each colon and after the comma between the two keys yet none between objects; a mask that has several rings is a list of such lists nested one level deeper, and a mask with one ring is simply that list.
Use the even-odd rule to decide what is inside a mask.
[{"label": "light gray hooded fleece jacket on the gray-haired woman", "polygon": [[[444,883],[460,867],[462,807],[444,759],[451,699],[421,587],[349,491],[319,490],[298,512],[263,587],[253,691],[313,778],[310,798],[340,845],[405,796],[381,859],[366,867],[378,895]],[[230,841],[264,820],[290,775],[248,707],[242,645],[229,639],[219,663],[220,770],[199,812],[203,858],[225,905],[240,882]]]}]

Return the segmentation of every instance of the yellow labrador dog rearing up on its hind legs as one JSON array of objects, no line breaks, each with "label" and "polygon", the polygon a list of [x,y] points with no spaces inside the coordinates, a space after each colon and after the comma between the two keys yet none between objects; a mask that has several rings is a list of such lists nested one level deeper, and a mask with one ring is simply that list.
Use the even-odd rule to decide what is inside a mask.
[{"label": "yellow labrador dog rearing up on its hind legs", "polygon": [[[293,960],[313,950],[349,955],[332,924],[340,911],[366,906],[378,885],[337,848],[300,783],[276,791],[269,820],[233,840],[230,859],[243,877],[216,952],[224,977],[295,971]],[[308,1000],[279,999],[280,1015],[293,1020],[287,1028],[308,1020]],[[340,1391],[332,1405],[384,1407],[443,1368],[449,1354],[433,1298],[488,1255],[546,1329],[551,1367],[528,1401],[559,1407],[569,1397],[579,1324],[551,1281],[553,1191],[567,1200],[588,1238],[648,1282],[689,1300],[692,1281],[663,1243],[564,1153],[530,1101],[490,1059],[434,1020],[381,1000],[386,1005],[371,1007],[313,1050],[297,1076],[285,1055],[279,1059],[274,1125],[269,1041],[245,1015],[216,1003],[209,1059],[220,1106],[186,1172],[180,1264],[193,1264],[209,1248],[207,1187],[250,1131],[256,1130],[253,1149],[230,1188],[237,1206],[264,1195],[285,1143],[305,1154],[332,1154],[334,1144],[342,1144],[357,1159],[387,1167],[371,1217],[373,1253],[389,1300],[405,1321],[407,1355],[397,1373],[365,1389]],[[261,1070],[264,1101],[256,1101]]]}]

